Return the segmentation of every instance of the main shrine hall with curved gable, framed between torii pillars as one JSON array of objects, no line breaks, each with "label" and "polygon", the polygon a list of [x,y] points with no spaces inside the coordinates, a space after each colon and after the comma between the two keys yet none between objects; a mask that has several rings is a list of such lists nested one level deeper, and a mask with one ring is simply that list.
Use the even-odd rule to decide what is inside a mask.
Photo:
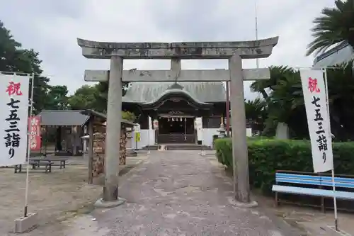
[{"label": "main shrine hall with curved gable, framed between torii pillars", "polygon": [[138,114],[138,148],[211,146],[226,117],[226,90],[222,82],[134,82],[122,97],[122,110]]}]

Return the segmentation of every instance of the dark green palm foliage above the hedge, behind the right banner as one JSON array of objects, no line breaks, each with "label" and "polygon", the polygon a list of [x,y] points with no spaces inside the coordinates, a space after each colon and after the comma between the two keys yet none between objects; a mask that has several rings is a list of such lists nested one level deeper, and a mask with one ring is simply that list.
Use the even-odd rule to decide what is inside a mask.
[{"label": "dark green palm foliage above the hedge, behind the right banner", "polygon": [[[354,140],[354,72],[353,61],[338,64],[327,69],[331,133],[337,140]],[[279,67],[272,67],[271,78],[253,83],[254,88],[269,89],[267,94],[265,128],[263,135],[308,138],[307,118],[298,71],[287,68],[280,73]],[[264,84],[272,84],[265,86]],[[253,90],[254,91],[254,90]],[[251,113],[250,113],[251,114]],[[278,130],[278,132],[275,132]],[[282,130],[280,132],[280,130]],[[287,132],[287,134],[285,133]]]}]

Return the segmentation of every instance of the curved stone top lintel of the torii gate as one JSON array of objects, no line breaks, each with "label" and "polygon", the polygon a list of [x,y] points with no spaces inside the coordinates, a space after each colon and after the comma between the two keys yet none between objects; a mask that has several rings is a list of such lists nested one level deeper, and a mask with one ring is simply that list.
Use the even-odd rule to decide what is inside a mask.
[{"label": "curved stone top lintel of the torii gate", "polygon": [[107,43],[77,39],[86,58],[109,59],[242,59],[264,58],[272,54],[279,37],[236,42]]}]

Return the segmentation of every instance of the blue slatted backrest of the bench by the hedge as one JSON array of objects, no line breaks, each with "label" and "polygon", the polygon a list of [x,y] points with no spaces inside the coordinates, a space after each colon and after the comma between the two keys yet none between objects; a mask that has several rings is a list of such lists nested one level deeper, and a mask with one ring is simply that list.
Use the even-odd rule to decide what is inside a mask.
[{"label": "blue slatted backrest of the bench by the hedge", "polygon": [[[275,182],[277,183],[289,183],[289,184],[307,184],[316,186],[332,186],[331,176],[314,176],[306,174],[287,174],[276,173]],[[354,189],[354,179],[334,177],[334,184],[336,187]]]}]

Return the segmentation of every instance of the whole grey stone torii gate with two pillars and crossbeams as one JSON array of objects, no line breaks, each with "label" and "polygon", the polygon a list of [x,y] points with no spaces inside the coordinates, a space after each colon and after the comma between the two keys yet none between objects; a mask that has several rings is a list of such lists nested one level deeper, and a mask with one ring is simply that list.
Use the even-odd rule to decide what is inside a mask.
[{"label": "whole grey stone torii gate with two pillars and crossbeams", "polygon": [[[231,90],[232,157],[234,193],[240,203],[250,204],[249,160],[246,144],[243,80],[269,79],[269,69],[242,69],[242,59],[269,57],[278,37],[240,42],[105,43],[78,38],[86,58],[110,59],[110,70],[85,71],[86,81],[107,81],[108,107],[105,141],[105,186],[103,201],[121,203],[118,198],[117,143],[122,117],[122,82],[227,82]],[[171,70],[125,70],[123,59],[168,59]],[[181,60],[228,59],[229,69],[181,70]],[[252,205],[252,204],[251,204]]]}]

